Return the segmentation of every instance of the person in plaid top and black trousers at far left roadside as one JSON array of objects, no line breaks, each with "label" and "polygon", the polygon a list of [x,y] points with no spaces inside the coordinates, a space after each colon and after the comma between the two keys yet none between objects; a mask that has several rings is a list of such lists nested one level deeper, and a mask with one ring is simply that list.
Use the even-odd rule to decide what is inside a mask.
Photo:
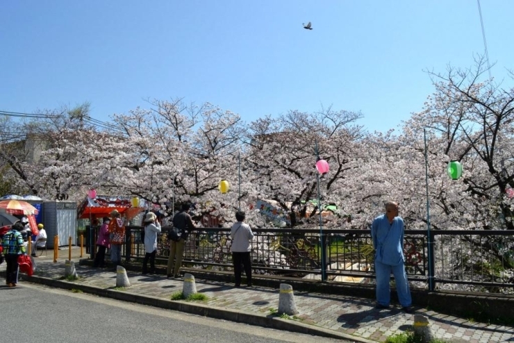
[{"label": "person in plaid top and black trousers at far left roadside", "polygon": [[6,285],[9,287],[16,287],[18,283],[18,256],[26,254],[22,230],[24,230],[24,225],[17,221],[3,236],[2,240],[3,256],[5,256],[7,263]]}]

